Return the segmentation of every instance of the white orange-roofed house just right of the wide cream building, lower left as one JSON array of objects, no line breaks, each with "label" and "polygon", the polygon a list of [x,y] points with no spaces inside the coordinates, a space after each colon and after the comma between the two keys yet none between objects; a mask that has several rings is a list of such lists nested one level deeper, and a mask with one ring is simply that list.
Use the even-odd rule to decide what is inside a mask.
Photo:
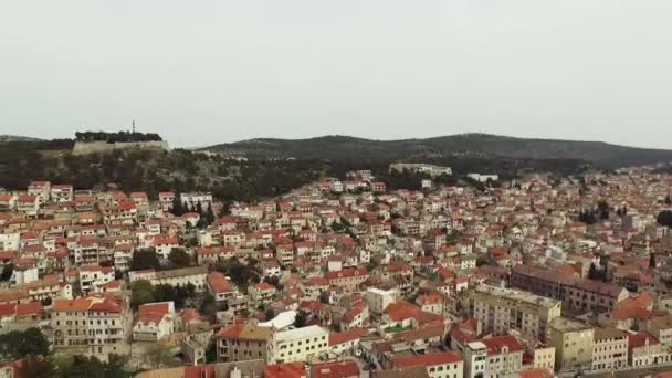
[{"label": "white orange-roofed house just right of the wide cream building, lower left", "polygon": [[158,342],[172,335],[176,328],[175,305],[172,302],[147,303],[138,307],[137,319],[133,326],[136,342]]}]

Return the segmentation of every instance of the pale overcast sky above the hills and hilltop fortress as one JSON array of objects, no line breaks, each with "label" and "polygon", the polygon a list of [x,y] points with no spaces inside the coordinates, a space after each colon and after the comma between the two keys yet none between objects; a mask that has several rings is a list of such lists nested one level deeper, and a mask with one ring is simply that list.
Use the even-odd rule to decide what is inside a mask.
[{"label": "pale overcast sky above the hills and hilltop fortress", "polygon": [[0,1],[0,134],[671,148],[670,0]]}]

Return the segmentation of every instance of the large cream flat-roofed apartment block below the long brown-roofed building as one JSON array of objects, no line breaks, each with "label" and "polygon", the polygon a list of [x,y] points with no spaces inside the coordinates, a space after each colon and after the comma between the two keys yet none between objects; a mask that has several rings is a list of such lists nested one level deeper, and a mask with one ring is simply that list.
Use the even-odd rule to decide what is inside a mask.
[{"label": "large cream flat-roofed apartment block below the long brown-roofed building", "polygon": [[511,329],[548,339],[548,324],[560,317],[561,302],[519,290],[481,285],[468,295],[469,313],[484,332],[507,335]]}]

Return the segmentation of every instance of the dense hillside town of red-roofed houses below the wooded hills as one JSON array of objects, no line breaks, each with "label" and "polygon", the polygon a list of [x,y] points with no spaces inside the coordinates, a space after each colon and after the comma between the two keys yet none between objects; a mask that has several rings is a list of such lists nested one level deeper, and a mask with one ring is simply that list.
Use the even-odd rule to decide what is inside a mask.
[{"label": "dense hillside town of red-roofed houses below the wooded hills", "polygon": [[672,176],[392,169],[422,190],[356,170],[256,203],[0,191],[0,377],[29,354],[145,378],[672,370]]}]

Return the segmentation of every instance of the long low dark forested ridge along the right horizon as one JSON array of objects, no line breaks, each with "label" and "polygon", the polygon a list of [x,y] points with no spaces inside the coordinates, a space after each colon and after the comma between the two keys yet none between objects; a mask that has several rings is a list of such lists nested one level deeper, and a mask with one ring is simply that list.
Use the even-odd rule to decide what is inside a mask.
[{"label": "long low dark forested ridge along the right horizon", "polygon": [[246,158],[365,159],[506,158],[571,159],[605,168],[672,161],[672,150],[636,148],[602,141],[527,139],[460,134],[426,139],[371,140],[348,136],[311,139],[250,139],[201,148]]}]

